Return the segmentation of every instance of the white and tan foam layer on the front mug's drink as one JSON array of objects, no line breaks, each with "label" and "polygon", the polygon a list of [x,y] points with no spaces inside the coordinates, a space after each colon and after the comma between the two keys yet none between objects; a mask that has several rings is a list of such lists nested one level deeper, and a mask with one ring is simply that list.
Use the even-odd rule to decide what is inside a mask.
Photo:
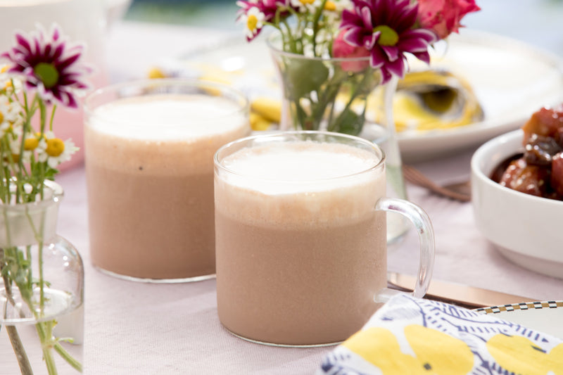
[{"label": "white and tan foam layer on the front mug's drink", "polygon": [[[365,220],[385,194],[376,155],[343,144],[296,141],[244,148],[215,179],[215,208],[247,224],[287,229]],[[346,176],[346,177],[340,177]]]}]

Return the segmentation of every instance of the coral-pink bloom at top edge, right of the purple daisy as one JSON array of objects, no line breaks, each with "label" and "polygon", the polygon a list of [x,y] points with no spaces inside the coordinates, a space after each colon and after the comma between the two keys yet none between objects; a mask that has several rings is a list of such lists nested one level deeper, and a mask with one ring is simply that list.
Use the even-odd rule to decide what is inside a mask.
[{"label": "coral-pink bloom at top edge, right of the purple daisy", "polygon": [[474,0],[418,0],[418,3],[420,25],[436,32],[440,39],[457,32],[464,15],[481,10]]}]

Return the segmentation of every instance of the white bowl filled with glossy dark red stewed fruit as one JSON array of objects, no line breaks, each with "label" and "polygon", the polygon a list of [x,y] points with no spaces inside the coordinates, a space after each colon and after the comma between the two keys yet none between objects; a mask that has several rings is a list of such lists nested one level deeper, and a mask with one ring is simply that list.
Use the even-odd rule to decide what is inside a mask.
[{"label": "white bowl filled with glossy dark red stewed fruit", "polygon": [[563,105],[483,144],[471,167],[481,234],[512,262],[563,279]]}]

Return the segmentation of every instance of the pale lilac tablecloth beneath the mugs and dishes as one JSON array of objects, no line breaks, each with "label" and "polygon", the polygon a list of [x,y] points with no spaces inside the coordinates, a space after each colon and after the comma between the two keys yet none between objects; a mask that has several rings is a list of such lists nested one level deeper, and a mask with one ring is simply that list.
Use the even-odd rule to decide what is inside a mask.
[{"label": "pale lilac tablecloth beneath the mugs and dishes", "polygon": [[[218,42],[225,34],[232,31],[116,23],[108,36],[111,80],[146,77],[148,69],[161,58]],[[545,47],[561,53],[563,43],[557,39],[560,37],[555,38],[544,41]],[[415,167],[436,182],[467,179],[473,151]],[[312,374],[331,350],[272,348],[227,333],[217,318],[214,279],[190,284],[141,284],[97,271],[89,260],[84,168],[63,172],[58,182],[65,188],[58,232],[80,250],[86,269],[86,374]],[[537,300],[563,299],[563,280],[512,264],[483,238],[474,223],[471,203],[433,196],[415,186],[408,186],[408,194],[434,223],[434,279]],[[400,248],[390,254],[389,270],[415,274],[418,256],[411,253],[417,253],[417,249],[411,231]]]}]

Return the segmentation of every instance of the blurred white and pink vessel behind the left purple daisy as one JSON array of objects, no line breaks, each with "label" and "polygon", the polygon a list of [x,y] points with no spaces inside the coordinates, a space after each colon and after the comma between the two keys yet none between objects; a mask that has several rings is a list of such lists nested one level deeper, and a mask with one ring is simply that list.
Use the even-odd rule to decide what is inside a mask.
[{"label": "blurred white and pink vessel behind the left purple daisy", "polygon": [[[0,51],[7,51],[14,43],[14,32],[25,33],[39,23],[50,30],[58,23],[63,34],[72,42],[86,44],[84,62],[94,68],[87,80],[93,87],[107,82],[104,39],[106,38],[106,6],[101,0],[0,0]],[[72,138],[80,151],[72,160],[61,165],[62,170],[79,165],[84,159],[82,106],[79,110],[57,107],[54,130],[58,138]]]}]

